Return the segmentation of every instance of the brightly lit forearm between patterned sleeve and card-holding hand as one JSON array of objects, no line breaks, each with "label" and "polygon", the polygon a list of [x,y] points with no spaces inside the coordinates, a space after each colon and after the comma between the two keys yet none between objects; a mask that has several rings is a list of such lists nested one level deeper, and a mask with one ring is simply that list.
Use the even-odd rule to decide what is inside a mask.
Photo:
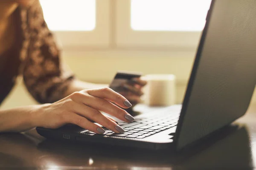
[{"label": "brightly lit forearm between patterned sleeve and card-holding hand", "polygon": [[108,87],[108,85],[107,84],[95,84],[95,83],[90,83],[90,82],[82,82],[80,80],[74,80],[68,87],[64,96],[69,96],[70,94],[72,94],[76,91],[81,91],[81,90],[85,90],[85,89],[93,89],[93,88],[104,88],[104,87]]}]

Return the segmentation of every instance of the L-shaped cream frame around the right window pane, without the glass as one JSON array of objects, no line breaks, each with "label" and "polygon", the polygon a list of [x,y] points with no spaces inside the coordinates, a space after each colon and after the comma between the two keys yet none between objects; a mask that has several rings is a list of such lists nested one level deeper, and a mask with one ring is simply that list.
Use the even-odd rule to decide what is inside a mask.
[{"label": "L-shaped cream frame around the right window pane, without the glass", "polygon": [[195,50],[202,31],[135,31],[131,28],[131,0],[116,0],[117,47]]}]

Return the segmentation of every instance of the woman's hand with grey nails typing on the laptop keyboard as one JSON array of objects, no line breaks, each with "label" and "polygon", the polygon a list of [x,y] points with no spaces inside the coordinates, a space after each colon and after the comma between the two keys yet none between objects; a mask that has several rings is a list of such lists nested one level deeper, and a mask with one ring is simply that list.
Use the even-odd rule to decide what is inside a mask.
[{"label": "woman's hand with grey nails typing on the laptop keyboard", "polygon": [[[98,88],[75,92],[52,104],[42,105],[38,113],[38,127],[58,128],[72,123],[95,133],[105,133],[102,127],[107,127],[115,133],[124,133],[122,127],[113,119],[106,117],[100,111],[116,118],[132,122],[134,118],[121,108],[130,108],[131,103],[125,97],[110,88]],[[93,121],[93,122],[92,122]]]}]

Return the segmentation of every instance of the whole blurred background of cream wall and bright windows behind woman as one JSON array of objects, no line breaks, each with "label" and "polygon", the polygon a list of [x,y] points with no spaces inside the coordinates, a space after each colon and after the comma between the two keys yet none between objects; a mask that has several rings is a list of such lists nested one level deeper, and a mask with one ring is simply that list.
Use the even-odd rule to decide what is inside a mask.
[{"label": "whole blurred background of cream wall and bright windows behind woman", "polygon": [[[182,102],[211,0],[40,2],[62,59],[79,79],[110,83],[117,70],[175,74]],[[20,78],[1,108],[34,103]]]}]

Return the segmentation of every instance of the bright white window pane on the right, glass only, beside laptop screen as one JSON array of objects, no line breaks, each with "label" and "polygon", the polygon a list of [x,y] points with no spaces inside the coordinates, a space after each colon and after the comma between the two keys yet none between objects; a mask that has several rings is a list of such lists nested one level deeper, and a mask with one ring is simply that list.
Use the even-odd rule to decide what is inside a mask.
[{"label": "bright white window pane on the right, glass only, beside laptop screen", "polygon": [[131,0],[136,31],[202,31],[210,0]]}]

